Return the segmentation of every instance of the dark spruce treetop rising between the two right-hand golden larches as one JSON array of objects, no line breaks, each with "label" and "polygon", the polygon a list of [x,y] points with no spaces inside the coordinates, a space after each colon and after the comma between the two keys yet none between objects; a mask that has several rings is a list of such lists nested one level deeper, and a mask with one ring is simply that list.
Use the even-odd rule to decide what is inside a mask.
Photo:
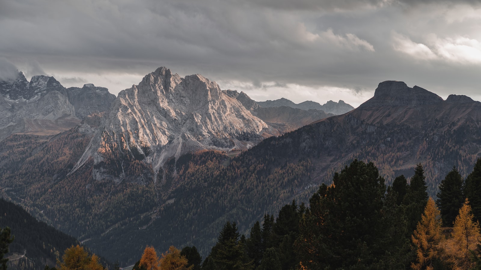
[{"label": "dark spruce treetop rising between the two right-hand golden larches", "polygon": [[444,226],[450,227],[456,219],[459,209],[463,206],[463,177],[453,167],[448,172],[441,184],[439,184],[439,193],[436,204],[441,211]]}]

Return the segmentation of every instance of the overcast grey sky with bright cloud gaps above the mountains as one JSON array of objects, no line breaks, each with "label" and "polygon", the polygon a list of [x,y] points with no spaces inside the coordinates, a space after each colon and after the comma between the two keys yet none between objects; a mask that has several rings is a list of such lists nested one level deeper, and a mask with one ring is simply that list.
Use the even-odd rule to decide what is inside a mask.
[{"label": "overcast grey sky with bright cloud gaps above the mountains", "polygon": [[481,100],[481,0],[0,0],[0,77],[117,94],[157,67],[353,106],[404,81]]}]

